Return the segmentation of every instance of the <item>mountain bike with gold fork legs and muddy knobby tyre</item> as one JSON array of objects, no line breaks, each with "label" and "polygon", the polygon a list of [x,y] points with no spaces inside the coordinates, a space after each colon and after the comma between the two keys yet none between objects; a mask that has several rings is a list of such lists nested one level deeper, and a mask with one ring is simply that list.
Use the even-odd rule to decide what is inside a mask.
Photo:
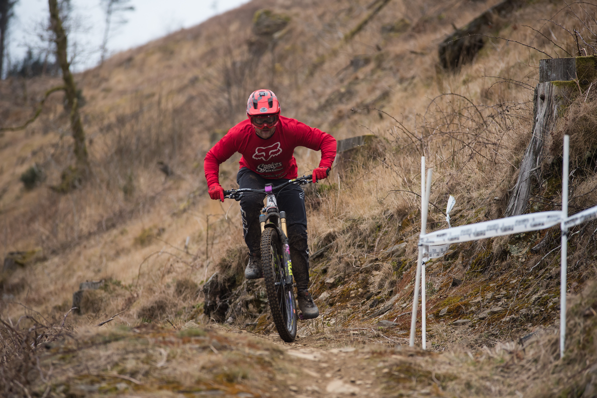
[{"label": "mountain bike with gold fork legs and muddy knobby tyre", "polygon": [[224,191],[224,198],[236,201],[248,194],[266,195],[266,205],[259,215],[261,266],[273,323],[282,340],[287,343],[293,342],[297,335],[297,304],[294,300],[293,266],[290,260],[286,212],[279,210],[275,194],[289,185],[303,185],[309,182],[312,182],[312,175],[291,179],[278,186],[267,184],[264,189],[241,188]]}]

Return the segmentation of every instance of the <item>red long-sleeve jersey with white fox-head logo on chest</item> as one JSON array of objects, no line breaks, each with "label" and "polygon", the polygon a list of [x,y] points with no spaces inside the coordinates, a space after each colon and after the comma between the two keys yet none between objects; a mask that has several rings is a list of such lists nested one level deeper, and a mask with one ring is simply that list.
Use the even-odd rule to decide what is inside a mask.
[{"label": "red long-sleeve jersey with white fox-head logo on chest", "polygon": [[263,139],[255,133],[249,119],[230,129],[205,155],[207,185],[219,184],[220,163],[235,152],[242,155],[240,167],[247,167],[263,178],[297,178],[294,148],[321,151],[319,167],[331,167],[336,157],[336,139],[290,117],[280,116],[273,135]]}]

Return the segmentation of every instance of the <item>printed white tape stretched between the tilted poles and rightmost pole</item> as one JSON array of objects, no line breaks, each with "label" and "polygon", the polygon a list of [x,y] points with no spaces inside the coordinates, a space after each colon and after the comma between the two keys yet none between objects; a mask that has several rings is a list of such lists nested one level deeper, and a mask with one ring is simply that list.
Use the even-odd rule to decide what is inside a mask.
[{"label": "printed white tape stretched between the tilted poles and rightmost pole", "polygon": [[562,212],[522,214],[521,216],[440,229],[439,231],[421,235],[419,244],[441,245],[446,243],[475,241],[479,239],[499,237],[501,235],[519,234],[521,232],[549,228],[550,226],[558,225],[561,221]]}]

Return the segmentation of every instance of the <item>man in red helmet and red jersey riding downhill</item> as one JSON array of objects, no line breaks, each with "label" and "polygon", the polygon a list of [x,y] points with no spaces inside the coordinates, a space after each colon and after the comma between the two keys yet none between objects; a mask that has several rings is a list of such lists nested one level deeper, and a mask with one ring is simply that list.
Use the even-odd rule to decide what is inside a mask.
[{"label": "man in red helmet and red jersey riding downhill", "polygon": [[[270,90],[257,90],[249,96],[248,119],[231,128],[205,156],[204,170],[210,198],[224,201],[224,189],[218,178],[220,163],[236,152],[242,154],[236,175],[239,188],[263,189],[266,184],[276,186],[297,178],[297,163],[293,156],[296,147],[321,151],[319,167],[312,173],[313,182],[327,178],[336,157],[336,139],[296,119],[280,116],[280,110],[278,98]],[[263,278],[259,214],[264,197],[265,194],[253,194],[241,199],[242,229],[250,253],[245,269],[247,279]],[[309,247],[303,189],[300,185],[290,185],[279,192],[276,199],[280,209],[287,214],[298,307],[303,312],[303,319],[317,318],[319,309],[307,291]]]}]

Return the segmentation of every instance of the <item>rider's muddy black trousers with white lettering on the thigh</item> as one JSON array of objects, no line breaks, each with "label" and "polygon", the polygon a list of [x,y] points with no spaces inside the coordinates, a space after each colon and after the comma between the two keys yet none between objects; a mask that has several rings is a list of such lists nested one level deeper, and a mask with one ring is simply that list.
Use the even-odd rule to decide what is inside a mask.
[{"label": "rider's muddy black trousers with white lettering on the thigh", "polygon": [[[287,182],[288,179],[267,179],[243,167],[236,175],[239,188],[263,189],[266,184],[273,186]],[[245,243],[251,253],[260,251],[261,226],[260,210],[263,209],[265,194],[245,195],[241,199],[242,229]],[[290,240],[290,259],[293,262],[293,275],[298,290],[309,285],[309,247],[307,246],[307,212],[304,207],[304,192],[300,185],[289,185],[276,194],[276,201],[281,211],[286,212],[288,240]]]}]

